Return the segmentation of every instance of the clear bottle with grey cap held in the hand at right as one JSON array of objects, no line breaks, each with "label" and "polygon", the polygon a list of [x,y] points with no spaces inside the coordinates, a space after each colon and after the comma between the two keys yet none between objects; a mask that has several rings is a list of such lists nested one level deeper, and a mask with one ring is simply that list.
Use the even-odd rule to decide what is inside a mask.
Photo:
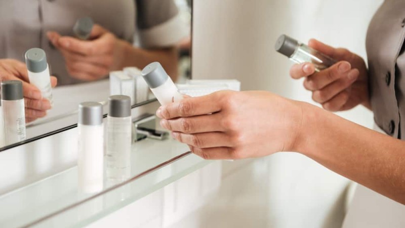
[{"label": "clear bottle with grey cap held in the hand at right", "polygon": [[331,57],[299,43],[288,35],[280,35],[275,46],[275,50],[290,58],[295,63],[310,62],[314,64],[315,71],[326,69],[336,63]]}]

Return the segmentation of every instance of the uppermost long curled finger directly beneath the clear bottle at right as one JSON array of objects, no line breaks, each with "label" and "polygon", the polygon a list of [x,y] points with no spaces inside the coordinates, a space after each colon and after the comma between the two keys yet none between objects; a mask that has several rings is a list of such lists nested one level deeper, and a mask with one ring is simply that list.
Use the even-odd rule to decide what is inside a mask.
[{"label": "uppermost long curled finger directly beneath the clear bottle at right", "polygon": [[338,62],[325,70],[308,76],[304,81],[304,87],[310,91],[320,90],[341,78],[347,78],[350,68],[349,62]]}]

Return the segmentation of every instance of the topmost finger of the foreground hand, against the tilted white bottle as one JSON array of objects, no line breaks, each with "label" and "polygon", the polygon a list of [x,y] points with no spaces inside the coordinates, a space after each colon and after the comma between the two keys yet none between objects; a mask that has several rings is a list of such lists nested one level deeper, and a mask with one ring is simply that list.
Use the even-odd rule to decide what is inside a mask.
[{"label": "topmost finger of the foreground hand, against the tilted white bottle", "polygon": [[179,103],[159,107],[156,115],[163,119],[173,119],[214,113],[221,110],[221,102],[219,102],[221,94],[215,92],[206,96],[185,98]]}]

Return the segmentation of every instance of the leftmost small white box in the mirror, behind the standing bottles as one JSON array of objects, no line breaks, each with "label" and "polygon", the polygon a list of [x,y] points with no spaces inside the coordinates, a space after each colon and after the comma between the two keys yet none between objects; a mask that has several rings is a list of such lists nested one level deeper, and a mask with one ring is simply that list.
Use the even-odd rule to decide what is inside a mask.
[{"label": "leftmost small white box in the mirror, behind the standing bottles", "polygon": [[110,95],[126,95],[135,104],[135,81],[124,71],[110,72]]}]

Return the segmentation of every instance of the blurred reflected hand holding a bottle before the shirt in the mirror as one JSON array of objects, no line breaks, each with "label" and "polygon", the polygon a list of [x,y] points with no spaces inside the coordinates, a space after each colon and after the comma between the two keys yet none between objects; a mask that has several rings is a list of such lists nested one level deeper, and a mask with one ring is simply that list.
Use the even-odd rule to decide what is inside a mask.
[{"label": "blurred reflected hand holding a bottle before the shirt in the mirror", "polygon": [[105,78],[119,60],[119,40],[95,24],[88,41],[47,32],[48,39],[65,58],[68,73],[75,79],[94,81]]}]

